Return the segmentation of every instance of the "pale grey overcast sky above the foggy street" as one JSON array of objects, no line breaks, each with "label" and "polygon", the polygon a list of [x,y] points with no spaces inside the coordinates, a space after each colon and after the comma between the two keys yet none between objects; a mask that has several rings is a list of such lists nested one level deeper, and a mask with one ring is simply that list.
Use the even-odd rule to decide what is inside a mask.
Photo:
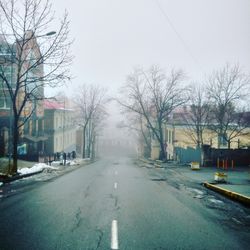
[{"label": "pale grey overcast sky above the foggy street", "polygon": [[183,69],[190,80],[225,63],[250,72],[249,0],[53,0],[71,20],[73,84],[115,90],[134,67]]}]

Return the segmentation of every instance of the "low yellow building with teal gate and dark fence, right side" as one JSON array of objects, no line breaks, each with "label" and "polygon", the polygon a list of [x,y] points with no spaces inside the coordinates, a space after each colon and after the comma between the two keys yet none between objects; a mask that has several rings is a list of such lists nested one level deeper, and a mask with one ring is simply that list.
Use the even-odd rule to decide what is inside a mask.
[{"label": "low yellow building with teal gate and dark fence, right side", "polygon": [[[216,157],[213,158],[215,155],[223,155],[224,158],[230,158],[237,152],[238,155],[244,156],[245,152],[243,149],[250,147],[250,113],[246,112],[243,115],[244,119],[242,120],[242,124],[244,126],[235,127],[239,125],[230,124],[227,134],[224,137],[219,136],[218,133],[210,129],[209,125],[200,125],[200,129],[202,130],[202,143],[198,146],[194,124],[191,119],[187,121],[187,118],[190,117],[188,110],[183,109],[176,111],[171,120],[174,127],[174,159],[181,163],[199,161],[206,165],[208,164],[206,161],[210,163],[216,162]],[[242,129],[242,131],[239,133],[238,131],[240,131],[240,129]],[[230,148],[228,148],[229,143],[227,138],[231,138]],[[237,159],[238,163],[243,162],[239,161],[236,156],[234,158]],[[216,166],[216,163],[214,165]]]}]

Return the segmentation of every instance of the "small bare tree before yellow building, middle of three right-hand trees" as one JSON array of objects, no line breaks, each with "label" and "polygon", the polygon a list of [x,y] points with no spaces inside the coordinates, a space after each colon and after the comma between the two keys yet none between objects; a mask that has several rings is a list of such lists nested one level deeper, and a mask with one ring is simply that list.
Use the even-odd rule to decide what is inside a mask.
[{"label": "small bare tree before yellow building, middle of three right-hand trees", "polygon": [[201,148],[204,145],[204,130],[210,121],[210,105],[205,87],[193,85],[189,90],[189,105],[183,112],[185,133]]}]

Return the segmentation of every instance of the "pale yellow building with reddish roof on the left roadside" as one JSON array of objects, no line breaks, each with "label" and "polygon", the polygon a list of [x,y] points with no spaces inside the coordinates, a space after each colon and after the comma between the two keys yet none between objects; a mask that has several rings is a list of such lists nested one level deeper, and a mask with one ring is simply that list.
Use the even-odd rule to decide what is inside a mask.
[{"label": "pale yellow building with reddish roof on the left roadside", "polygon": [[44,101],[45,154],[76,151],[75,111],[65,108],[65,102]]}]

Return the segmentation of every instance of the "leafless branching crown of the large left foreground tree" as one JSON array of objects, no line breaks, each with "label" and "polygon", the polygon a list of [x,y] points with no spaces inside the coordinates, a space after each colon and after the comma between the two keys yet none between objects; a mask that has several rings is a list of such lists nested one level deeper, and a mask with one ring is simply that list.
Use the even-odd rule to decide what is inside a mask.
[{"label": "leafless branching crown of the large left foreground tree", "polygon": [[[1,0],[0,11],[1,39],[10,51],[16,49],[11,58],[18,68],[16,82],[39,87],[56,86],[68,79],[72,61],[68,14],[65,12],[56,33],[50,35],[54,12],[49,0]],[[34,70],[43,72],[31,74]]]}]

